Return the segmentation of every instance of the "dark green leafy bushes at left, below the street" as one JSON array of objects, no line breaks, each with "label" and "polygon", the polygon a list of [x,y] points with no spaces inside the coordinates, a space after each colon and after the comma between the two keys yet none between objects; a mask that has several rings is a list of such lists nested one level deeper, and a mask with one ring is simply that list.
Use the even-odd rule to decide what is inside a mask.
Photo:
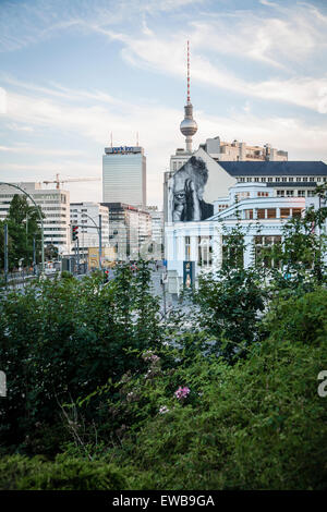
[{"label": "dark green leafy bushes at left, below the street", "polygon": [[0,298],[0,367],[10,389],[0,442],[46,450],[44,432],[60,424],[62,404],[144,365],[132,351],[158,345],[160,330],[157,300],[143,281],[122,266],[105,287],[99,277],[64,278]]}]

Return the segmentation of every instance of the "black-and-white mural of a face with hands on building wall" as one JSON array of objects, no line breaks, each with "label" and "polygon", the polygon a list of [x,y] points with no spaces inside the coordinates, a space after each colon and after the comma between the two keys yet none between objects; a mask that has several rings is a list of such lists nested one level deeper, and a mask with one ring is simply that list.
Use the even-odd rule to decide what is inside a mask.
[{"label": "black-and-white mural of a face with hands on building wall", "polygon": [[174,173],[171,184],[171,220],[204,220],[214,215],[214,206],[203,200],[208,170],[202,158],[192,157]]}]

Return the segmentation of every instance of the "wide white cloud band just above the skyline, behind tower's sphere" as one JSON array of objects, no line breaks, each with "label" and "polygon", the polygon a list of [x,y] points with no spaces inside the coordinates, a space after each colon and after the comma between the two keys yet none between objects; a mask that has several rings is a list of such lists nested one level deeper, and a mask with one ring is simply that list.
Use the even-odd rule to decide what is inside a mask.
[{"label": "wide white cloud band just above the skyline, behind tower's sphere", "polygon": [[[8,93],[8,113],[5,121],[19,125],[33,126],[35,130],[51,132],[57,141],[53,148],[38,149],[27,145],[2,145],[0,154],[16,154],[23,156],[24,150],[34,154],[34,163],[24,160],[0,164],[2,174],[10,173],[11,180],[43,181],[51,179],[56,172],[66,176],[101,175],[101,155],[104,147],[109,144],[109,133],[113,131],[113,144],[133,144],[136,130],[140,131],[140,143],[145,147],[147,157],[148,197],[154,204],[161,206],[162,172],[169,168],[169,157],[177,147],[184,144],[179,132],[182,111],[169,109],[157,103],[135,105],[121,102],[116,109],[114,98],[110,102],[105,99],[101,92],[89,92],[88,99],[83,106],[66,105],[63,98],[49,94],[40,96],[32,94],[32,84],[26,94],[22,92]],[[49,88],[50,89],[50,88]],[[38,90],[36,85],[35,90]],[[57,88],[55,89],[57,90]],[[78,90],[75,92],[78,95]],[[85,93],[85,92],[84,92]],[[86,92],[87,93],[87,92]],[[290,159],[325,159],[327,160],[327,121],[322,119],[320,124],[305,123],[293,117],[258,117],[247,110],[231,111],[227,115],[209,115],[203,111],[195,111],[194,117],[198,123],[198,133],[194,137],[194,147],[207,137],[220,135],[221,139],[244,141],[247,144],[265,144],[269,142],[272,147],[289,151]],[[154,120],[160,120],[155,123]],[[155,126],[155,129],[154,129]],[[134,129],[134,130],[133,130]],[[65,151],[60,147],[61,137],[66,142],[70,138],[81,138],[81,146],[85,149],[85,157],[81,158],[78,151]],[[82,141],[85,141],[83,144]],[[88,146],[86,146],[88,144]],[[34,153],[33,153],[34,151]],[[41,157],[51,157],[44,160]],[[16,178],[15,178],[16,176]],[[92,185],[92,186],[89,186]],[[101,185],[99,183],[66,184],[72,192],[72,200],[101,200]]]}]

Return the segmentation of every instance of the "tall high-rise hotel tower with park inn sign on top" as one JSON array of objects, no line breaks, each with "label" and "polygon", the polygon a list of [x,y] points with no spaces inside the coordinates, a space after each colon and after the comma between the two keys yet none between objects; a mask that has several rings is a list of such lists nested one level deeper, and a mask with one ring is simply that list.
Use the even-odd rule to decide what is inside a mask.
[{"label": "tall high-rise hotel tower with park inn sign on top", "polygon": [[143,147],[106,147],[102,202],[146,206],[146,157]]}]

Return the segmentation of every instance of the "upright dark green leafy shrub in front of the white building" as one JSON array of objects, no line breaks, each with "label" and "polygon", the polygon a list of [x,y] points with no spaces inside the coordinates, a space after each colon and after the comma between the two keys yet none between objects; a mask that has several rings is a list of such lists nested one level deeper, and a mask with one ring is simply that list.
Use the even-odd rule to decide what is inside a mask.
[{"label": "upright dark green leafy shrub in front of the white building", "polygon": [[198,327],[215,338],[213,350],[229,362],[244,355],[244,348],[257,339],[265,307],[261,269],[243,268],[245,247],[238,225],[225,236],[221,269],[199,276],[193,295]]}]

